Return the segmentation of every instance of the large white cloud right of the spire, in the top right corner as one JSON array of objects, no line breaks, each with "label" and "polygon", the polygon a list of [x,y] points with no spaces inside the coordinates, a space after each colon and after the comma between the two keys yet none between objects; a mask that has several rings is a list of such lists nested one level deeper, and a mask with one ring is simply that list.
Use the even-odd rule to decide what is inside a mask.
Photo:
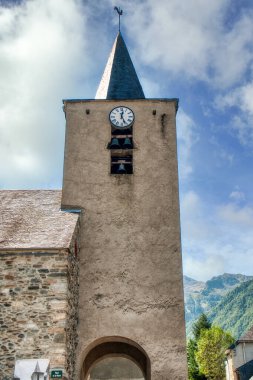
[{"label": "large white cloud right of the spire, in the top right corner", "polygon": [[228,28],[230,7],[230,0],[134,3],[129,34],[137,40],[145,64],[177,77],[230,87],[242,79],[253,59],[252,11],[238,15]]}]

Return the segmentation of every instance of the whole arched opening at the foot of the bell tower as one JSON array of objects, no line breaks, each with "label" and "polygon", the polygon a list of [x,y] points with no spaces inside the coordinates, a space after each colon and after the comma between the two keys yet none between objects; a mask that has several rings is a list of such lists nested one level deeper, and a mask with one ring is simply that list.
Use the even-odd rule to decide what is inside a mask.
[{"label": "whole arched opening at the foot of the bell tower", "polygon": [[150,361],[144,350],[129,339],[110,339],[92,345],[80,380],[149,380]]}]

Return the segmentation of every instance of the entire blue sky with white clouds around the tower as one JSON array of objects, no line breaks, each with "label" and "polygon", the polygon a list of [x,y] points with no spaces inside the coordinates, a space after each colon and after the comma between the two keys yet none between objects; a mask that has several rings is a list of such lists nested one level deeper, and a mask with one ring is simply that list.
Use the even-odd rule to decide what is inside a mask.
[{"label": "entire blue sky with white clouds around the tower", "polygon": [[184,274],[253,274],[251,0],[0,0],[0,188],[59,189],[62,99],[94,98],[118,31],[147,98],[179,98]]}]

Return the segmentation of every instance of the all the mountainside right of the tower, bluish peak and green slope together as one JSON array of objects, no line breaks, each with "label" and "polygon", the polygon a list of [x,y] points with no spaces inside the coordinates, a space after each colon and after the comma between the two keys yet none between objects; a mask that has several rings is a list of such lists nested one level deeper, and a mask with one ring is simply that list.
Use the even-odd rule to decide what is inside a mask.
[{"label": "all the mountainside right of the tower, bluish peak and green slope together", "polygon": [[253,324],[253,276],[224,273],[205,282],[184,277],[187,335],[201,313],[238,338]]}]

